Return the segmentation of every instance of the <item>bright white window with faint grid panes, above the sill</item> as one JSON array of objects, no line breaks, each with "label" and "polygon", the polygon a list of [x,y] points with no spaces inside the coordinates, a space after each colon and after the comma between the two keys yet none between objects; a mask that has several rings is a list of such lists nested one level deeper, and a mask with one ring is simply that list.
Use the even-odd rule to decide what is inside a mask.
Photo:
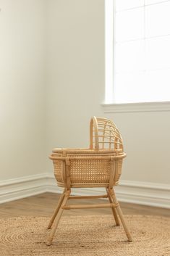
[{"label": "bright white window with faint grid panes, above the sill", "polygon": [[106,1],[106,103],[170,101],[170,0]]}]

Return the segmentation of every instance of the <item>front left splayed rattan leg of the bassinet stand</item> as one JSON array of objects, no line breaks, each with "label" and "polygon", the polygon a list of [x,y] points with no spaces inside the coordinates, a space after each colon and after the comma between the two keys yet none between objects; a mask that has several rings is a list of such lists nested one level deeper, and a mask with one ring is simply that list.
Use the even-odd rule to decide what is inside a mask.
[{"label": "front left splayed rattan leg of the bassinet stand", "polygon": [[56,216],[56,220],[54,220],[54,226],[51,229],[51,233],[49,234],[49,236],[48,236],[48,238],[46,240],[46,245],[51,245],[51,243],[53,241],[54,234],[56,232],[56,228],[59,225],[59,220],[61,218],[62,212],[64,211],[64,209],[62,207],[64,207],[66,205],[67,200],[69,198],[69,194],[70,194],[70,191],[66,191],[65,194],[64,194],[63,202],[61,203],[61,206],[59,208],[59,212],[58,212],[58,214]]}]

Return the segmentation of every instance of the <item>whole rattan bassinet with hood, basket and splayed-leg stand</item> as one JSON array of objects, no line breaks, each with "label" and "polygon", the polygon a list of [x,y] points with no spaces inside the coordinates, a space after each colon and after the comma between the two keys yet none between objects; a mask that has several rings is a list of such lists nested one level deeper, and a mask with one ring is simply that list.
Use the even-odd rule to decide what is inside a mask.
[{"label": "whole rattan bassinet with hood, basket and splayed-leg stand", "polygon": [[[122,160],[126,157],[121,135],[111,120],[93,117],[90,120],[89,149],[54,149],[50,158],[58,186],[64,187],[48,228],[51,232],[46,244],[51,245],[63,210],[110,207],[116,225],[121,220],[127,239],[132,241],[122,210],[114,193],[114,186],[122,173]],[[106,194],[96,196],[72,196],[72,188],[104,187]],[[90,205],[67,205],[69,199],[108,198],[109,203]],[[54,221],[55,220],[55,221]]]}]

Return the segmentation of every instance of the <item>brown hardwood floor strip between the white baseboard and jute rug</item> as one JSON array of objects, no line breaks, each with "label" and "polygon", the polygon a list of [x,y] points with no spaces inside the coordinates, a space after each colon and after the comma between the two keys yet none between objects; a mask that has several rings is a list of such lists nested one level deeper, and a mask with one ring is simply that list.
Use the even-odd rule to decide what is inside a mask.
[{"label": "brown hardwood floor strip between the white baseboard and jute rug", "polygon": [[[0,205],[0,218],[17,217],[23,215],[29,216],[51,216],[59,199],[59,194],[44,193],[38,194],[33,197],[27,197],[24,199],[7,202]],[[74,202],[73,202],[74,201]],[[69,200],[69,203],[77,204],[89,204],[89,203],[101,203],[102,199],[77,199]],[[120,202],[122,212],[124,214],[134,215],[162,215],[170,217],[170,210],[160,207],[150,207],[144,205],[135,205]],[[111,214],[109,208],[99,209],[84,209],[84,210],[64,210],[64,215],[100,215]]]}]

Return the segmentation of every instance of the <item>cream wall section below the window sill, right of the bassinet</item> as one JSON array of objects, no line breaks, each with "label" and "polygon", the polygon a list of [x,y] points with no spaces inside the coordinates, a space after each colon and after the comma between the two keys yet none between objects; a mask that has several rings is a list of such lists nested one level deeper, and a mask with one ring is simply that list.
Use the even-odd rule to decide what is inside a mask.
[{"label": "cream wall section below the window sill, right of the bassinet", "polygon": [[119,126],[127,158],[122,179],[170,183],[170,112],[107,114]]}]

